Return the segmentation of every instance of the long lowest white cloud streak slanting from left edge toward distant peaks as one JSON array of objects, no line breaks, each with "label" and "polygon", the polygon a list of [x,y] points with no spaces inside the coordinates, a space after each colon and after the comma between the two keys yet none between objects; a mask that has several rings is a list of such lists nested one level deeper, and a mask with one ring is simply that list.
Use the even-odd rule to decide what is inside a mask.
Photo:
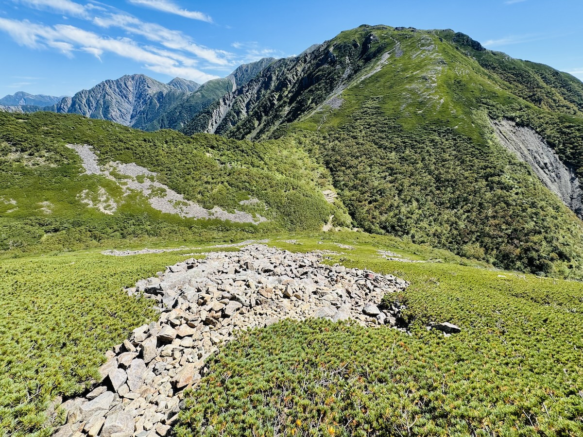
[{"label": "long lowest white cloud streak slanting from left edge toward distant peaks", "polygon": [[96,33],[79,29],[68,24],[45,26],[31,23],[28,20],[10,20],[0,18],[0,30],[8,33],[18,44],[30,48],[52,47],[67,56],[73,52],[82,51],[100,58],[104,53],[132,59],[141,62],[145,68],[168,75],[180,72],[186,79],[206,82],[217,76],[209,75],[192,67],[194,59],[185,63],[184,57],[167,51],[162,54],[142,47],[131,38],[109,38]]}]

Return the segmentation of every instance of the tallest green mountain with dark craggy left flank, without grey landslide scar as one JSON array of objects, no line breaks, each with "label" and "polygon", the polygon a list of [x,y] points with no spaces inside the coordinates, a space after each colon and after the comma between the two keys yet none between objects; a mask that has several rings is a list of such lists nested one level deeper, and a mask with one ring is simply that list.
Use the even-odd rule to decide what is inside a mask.
[{"label": "tallest green mountain with dark craggy left flank, without grey landslide scar", "polygon": [[184,130],[295,138],[367,231],[581,276],[581,221],[500,145],[489,119],[530,126],[578,169],[582,90],[463,34],[360,26],[275,62]]}]

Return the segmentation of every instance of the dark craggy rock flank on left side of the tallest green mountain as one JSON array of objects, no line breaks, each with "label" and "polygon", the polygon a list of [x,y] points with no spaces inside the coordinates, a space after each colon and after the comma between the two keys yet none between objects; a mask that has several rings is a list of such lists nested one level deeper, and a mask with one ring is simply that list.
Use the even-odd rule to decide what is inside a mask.
[{"label": "dark craggy rock flank on left side of the tallest green mountain", "polygon": [[279,59],[261,75],[201,112],[183,132],[266,138],[338,94],[387,44],[370,33],[363,41],[326,41],[294,58]]}]

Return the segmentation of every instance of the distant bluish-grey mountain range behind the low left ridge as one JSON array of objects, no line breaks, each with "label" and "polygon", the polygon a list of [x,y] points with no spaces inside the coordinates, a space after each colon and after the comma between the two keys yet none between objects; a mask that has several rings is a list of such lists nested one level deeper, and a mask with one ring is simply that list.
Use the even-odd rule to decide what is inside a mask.
[{"label": "distant bluish-grey mountain range behind the low left ridge", "polygon": [[152,77],[135,74],[104,80],[73,97],[33,96],[19,91],[2,98],[0,110],[80,114],[145,131],[181,129],[198,112],[249,82],[273,61],[274,58],[264,58],[241,65],[229,76],[209,80],[203,85],[181,77],[161,83]]}]

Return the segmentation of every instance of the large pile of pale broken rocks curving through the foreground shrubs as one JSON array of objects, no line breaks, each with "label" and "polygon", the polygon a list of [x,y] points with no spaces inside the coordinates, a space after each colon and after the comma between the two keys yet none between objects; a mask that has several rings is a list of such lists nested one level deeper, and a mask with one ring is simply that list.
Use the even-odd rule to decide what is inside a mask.
[{"label": "large pile of pale broken rocks curving through the foreground shrubs", "polygon": [[128,293],[152,299],[159,320],[136,328],[108,353],[101,385],[62,404],[67,423],[55,436],[166,436],[183,390],[199,382],[206,358],[238,329],[309,317],[396,325],[403,307],[378,304],[406,281],[320,262],[317,253],[251,245],[138,281]]}]

